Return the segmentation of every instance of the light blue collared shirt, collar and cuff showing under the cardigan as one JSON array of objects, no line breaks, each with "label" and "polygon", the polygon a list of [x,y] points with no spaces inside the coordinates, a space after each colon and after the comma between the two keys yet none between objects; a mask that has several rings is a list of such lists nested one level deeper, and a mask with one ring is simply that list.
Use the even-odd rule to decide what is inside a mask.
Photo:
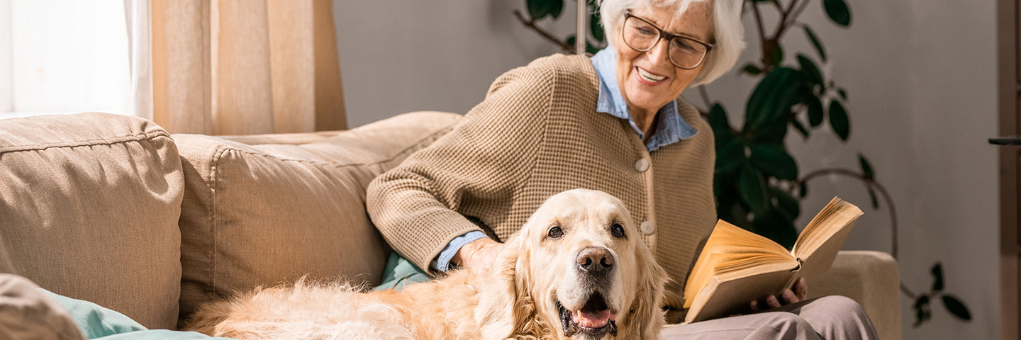
[{"label": "light blue collared shirt, collar and cuff showing under the cardigan", "polygon": [[[621,89],[617,85],[617,52],[613,48],[607,47],[595,53],[592,56],[592,66],[595,67],[595,74],[599,78],[599,97],[596,99],[595,111],[607,113],[621,119],[628,119],[631,128],[638,134],[638,139],[644,140],[645,136],[631,117],[631,111],[628,109],[628,105],[624,101],[624,96],[621,95]],[[677,143],[681,140],[689,139],[698,133],[677,111],[677,101],[667,103],[666,106],[660,108],[660,111],[655,115],[655,118],[659,119],[655,124],[655,131],[652,132],[648,141],[645,142],[645,149],[648,152],[655,151],[661,147]],[[439,272],[449,271],[450,259],[453,258],[453,254],[460,247],[484,237],[487,237],[486,234],[479,231],[469,232],[468,234],[455,237],[447,244],[446,248],[443,248],[443,251],[440,251],[439,256],[436,256],[436,259],[430,264]]]}]

